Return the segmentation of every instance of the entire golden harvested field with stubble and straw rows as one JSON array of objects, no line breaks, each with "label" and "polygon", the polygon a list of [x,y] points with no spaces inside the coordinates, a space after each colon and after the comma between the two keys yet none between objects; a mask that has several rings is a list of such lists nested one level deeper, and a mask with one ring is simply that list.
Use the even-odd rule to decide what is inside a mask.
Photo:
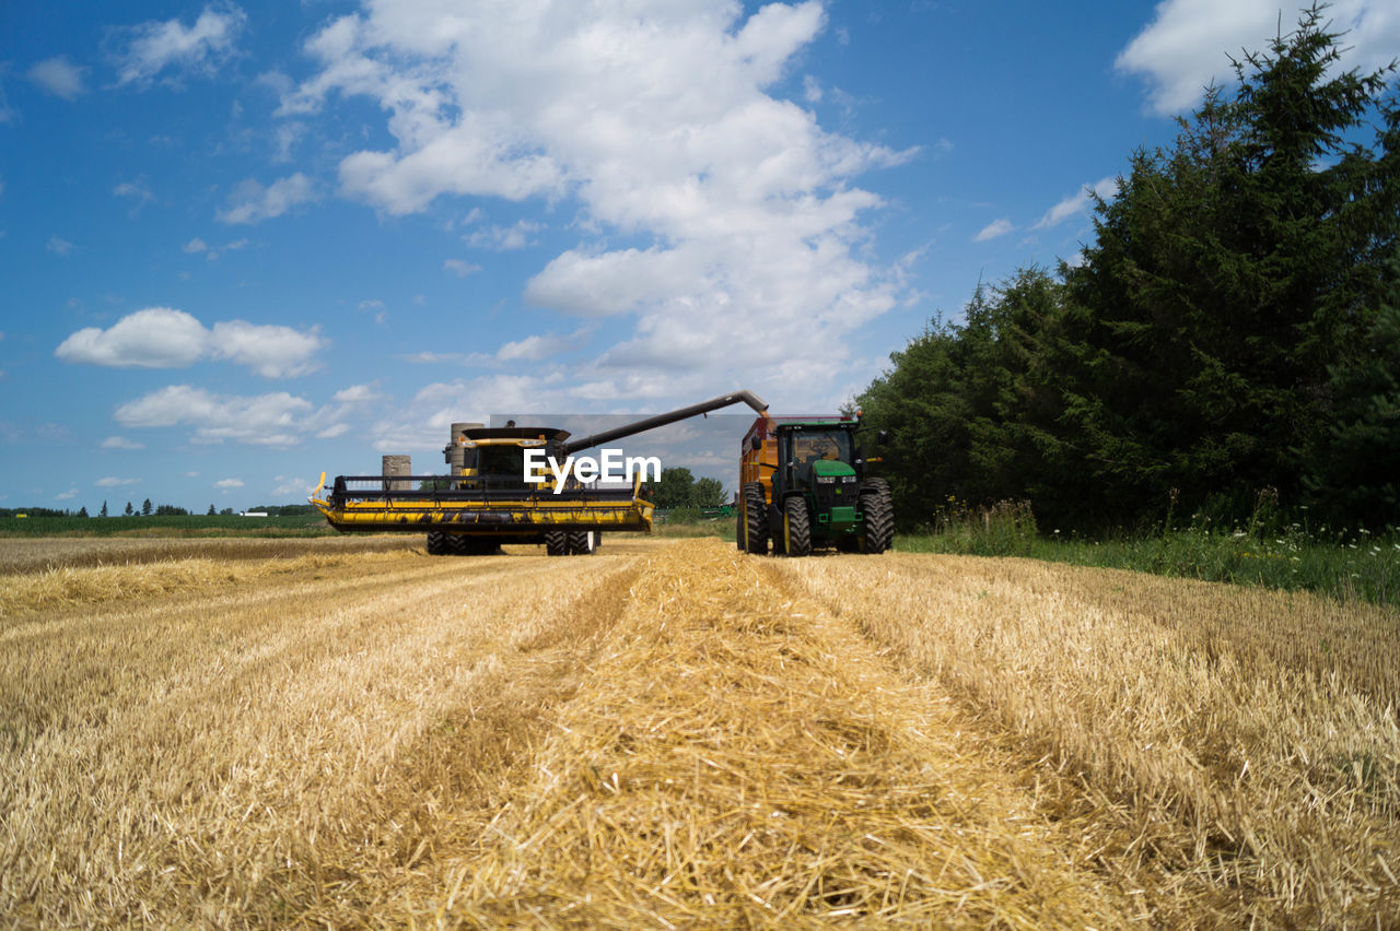
[{"label": "entire golden harvested field with stubble and straw rows", "polygon": [[704,537],[0,573],[0,923],[1400,924],[1393,608]]}]

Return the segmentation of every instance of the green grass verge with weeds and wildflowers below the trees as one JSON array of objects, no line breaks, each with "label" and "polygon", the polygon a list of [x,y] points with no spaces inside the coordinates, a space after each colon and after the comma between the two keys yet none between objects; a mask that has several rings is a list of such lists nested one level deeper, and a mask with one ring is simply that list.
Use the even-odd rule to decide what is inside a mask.
[{"label": "green grass verge with weeds and wildflowers below the trees", "polygon": [[[1264,509],[1261,509],[1264,510]],[[980,556],[1029,556],[1084,566],[1131,569],[1163,576],[1302,589],[1338,600],[1400,604],[1400,533],[1310,530],[1282,524],[1256,510],[1243,526],[1190,527],[1154,534],[1114,534],[1103,540],[1064,538],[1058,530],[1036,527],[1023,502],[1002,502],[977,510],[949,509],[934,530],[902,534],[903,552]]]}]

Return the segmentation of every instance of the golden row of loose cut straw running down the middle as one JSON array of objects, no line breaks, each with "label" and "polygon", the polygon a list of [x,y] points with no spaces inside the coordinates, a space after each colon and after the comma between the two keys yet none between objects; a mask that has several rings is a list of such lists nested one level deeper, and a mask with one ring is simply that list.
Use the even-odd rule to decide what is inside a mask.
[{"label": "golden row of loose cut straw running down the middle", "polygon": [[[389,924],[1117,927],[1082,826],[853,628],[714,540],[650,558],[480,850]],[[1022,765],[1022,769],[1025,766]]]}]

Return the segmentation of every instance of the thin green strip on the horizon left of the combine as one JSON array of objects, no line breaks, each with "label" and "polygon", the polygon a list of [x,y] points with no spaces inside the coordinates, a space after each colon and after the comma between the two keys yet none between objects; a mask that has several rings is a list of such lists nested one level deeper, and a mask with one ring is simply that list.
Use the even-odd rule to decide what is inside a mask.
[{"label": "thin green strip on the horizon left of the combine", "polygon": [[0,517],[3,537],[329,537],[321,514],[151,514],[148,517]]}]

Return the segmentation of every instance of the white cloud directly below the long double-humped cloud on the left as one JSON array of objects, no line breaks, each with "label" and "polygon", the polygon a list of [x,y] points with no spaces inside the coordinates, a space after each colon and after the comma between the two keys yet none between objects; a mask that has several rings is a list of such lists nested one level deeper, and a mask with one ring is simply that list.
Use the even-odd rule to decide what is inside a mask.
[{"label": "white cloud directly below the long double-humped cloud on the left", "polygon": [[210,394],[189,384],[172,384],[119,404],[113,417],[123,426],[195,428],[196,443],[237,440],[256,446],[295,446],[307,433],[312,405],[276,391],[255,397]]}]

